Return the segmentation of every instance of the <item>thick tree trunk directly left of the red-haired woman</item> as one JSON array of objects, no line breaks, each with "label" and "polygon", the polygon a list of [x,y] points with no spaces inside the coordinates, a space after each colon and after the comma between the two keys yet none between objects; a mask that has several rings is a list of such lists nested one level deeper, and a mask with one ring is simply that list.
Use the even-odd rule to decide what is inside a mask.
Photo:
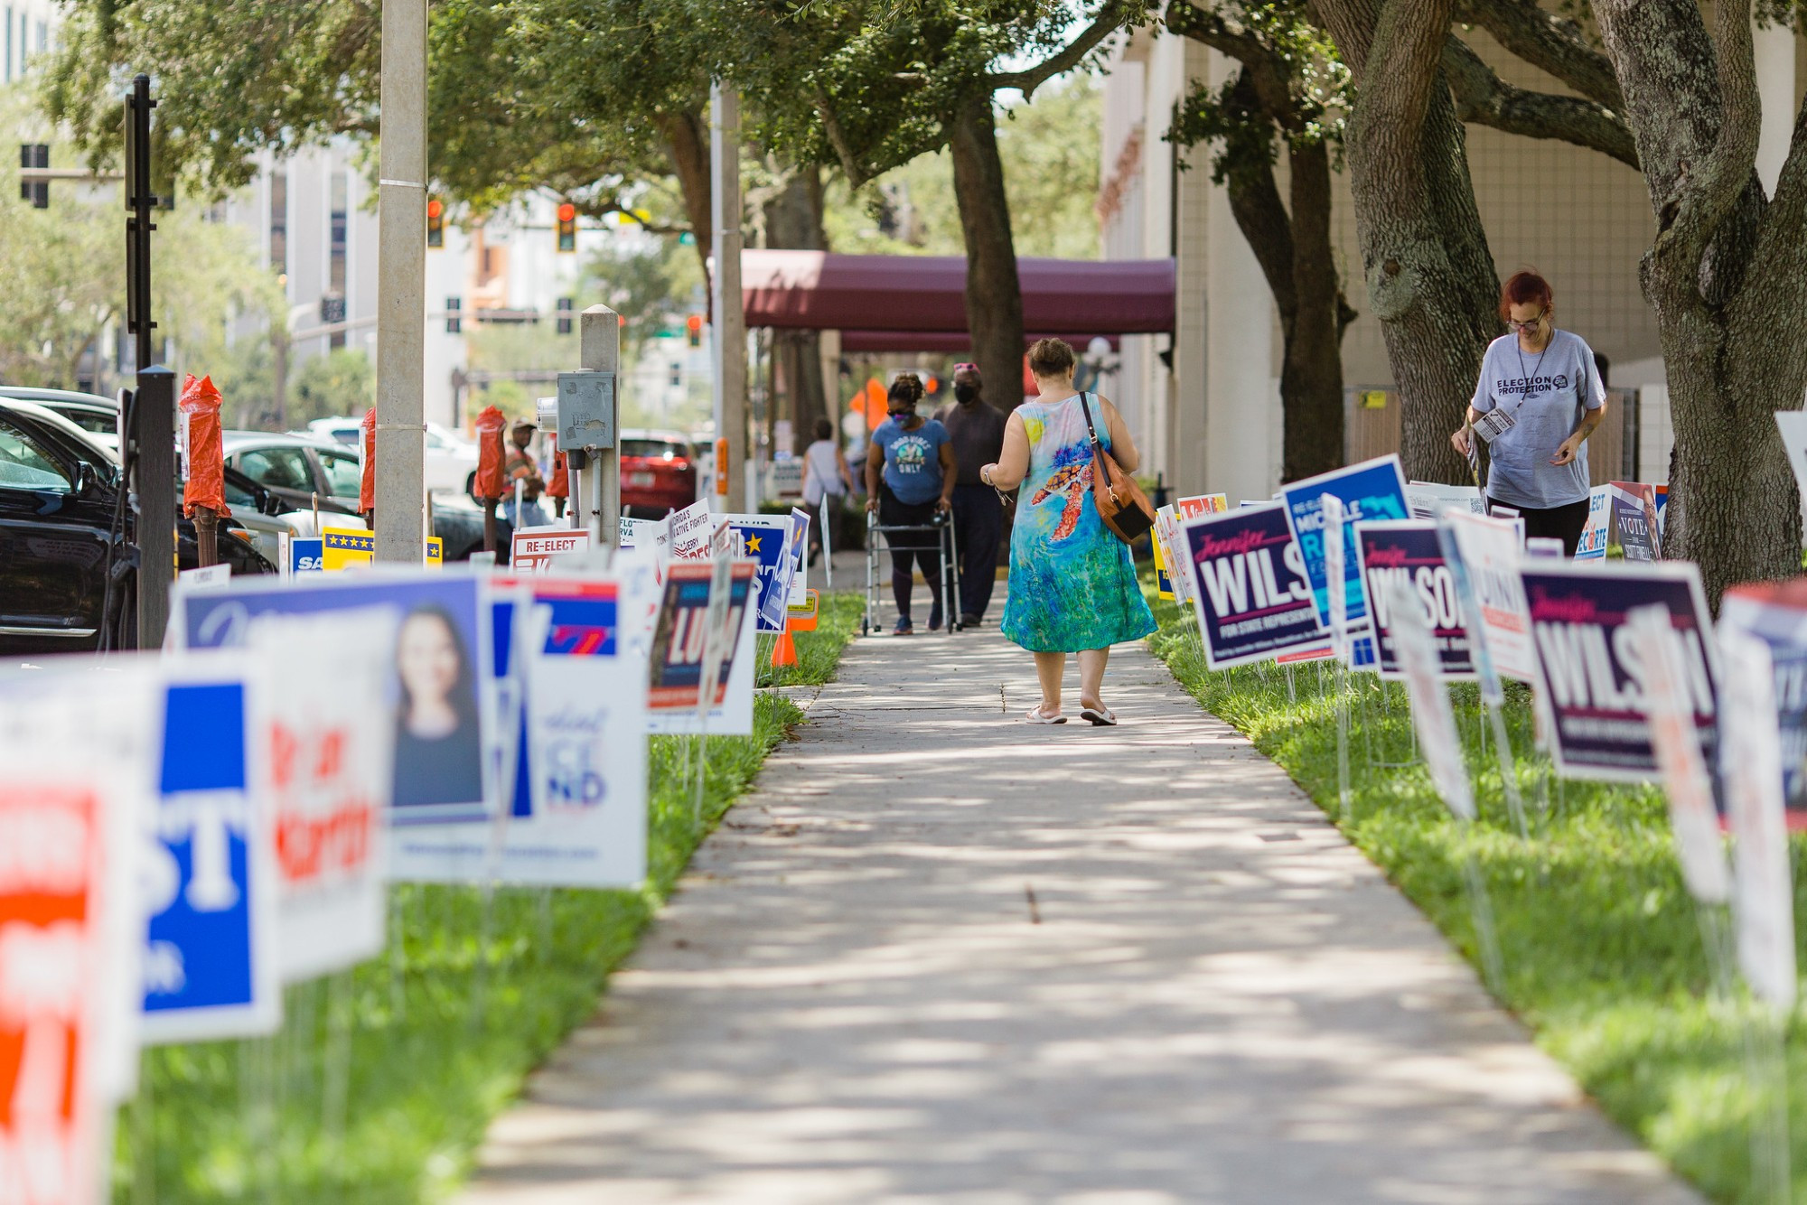
[{"label": "thick tree trunk directly left of the red-haired woman", "polygon": [[1400,396],[1400,459],[1420,481],[1467,482],[1449,432],[1500,334],[1498,276],[1475,208],[1467,141],[1438,67],[1444,0],[1319,0],[1355,67],[1350,191],[1362,278]]}]

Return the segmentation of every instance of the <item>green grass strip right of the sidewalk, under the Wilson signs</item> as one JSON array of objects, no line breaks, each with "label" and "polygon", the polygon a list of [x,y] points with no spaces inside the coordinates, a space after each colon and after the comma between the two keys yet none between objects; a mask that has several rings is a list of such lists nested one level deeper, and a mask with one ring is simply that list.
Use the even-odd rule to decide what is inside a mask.
[{"label": "green grass strip right of the sidewalk, under the Wilson signs", "polygon": [[[1274,665],[1211,672],[1191,612],[1149,602],[1160,621],[1149,647],[1180,685],[1337,818],[1334,672],[1319,677],[1317,665],[1296,667],[1296,697],[1288,697],[1287,670]],[[1521,842],[1507,818],[1496,753],[1482,748],[1476,688],[1458,683],[1456,723],[1482,809],[1464,844],[1415,761],[1402,685],[1382,685],[1373,674],[1350,679],[1353,820],[1341,822],[1344,835],[1478,965],[1462,882],[1464,855],[1473,849],[1493,898],[1503,1003],[1531,1024],[1538,1044],[1708,1196],[1769,1200],[1751,1174],[1753,1115],[1765,1102],[1746,1075],[1740,1006],[1708,999],[1697,911],[1661,791],[1549,775],[1547,759],[1532,753],[1531,692],[1509,683],[1507,724],[1531,818],[1531,840]],[[1803,862],[1803,844],[1794,840],[1796,914]],[[1796,936],[1807,934],[1798,927]],[[1807,1189],[1807,1046],[1800,1037],[1796,1012],[1785,1030],[1796,1200]]]}]

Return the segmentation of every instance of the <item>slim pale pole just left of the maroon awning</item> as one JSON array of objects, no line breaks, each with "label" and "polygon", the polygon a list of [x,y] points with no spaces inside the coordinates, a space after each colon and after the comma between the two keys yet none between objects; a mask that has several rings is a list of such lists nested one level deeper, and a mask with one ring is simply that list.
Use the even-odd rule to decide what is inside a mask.
[{"label": "slim pale pole just left of the maroon awning", "polygon": [[[710,273],[710,356],[716,361],[716,435],[728,441],[726,464],[716,473],[746,481],[741,509],[759,509],[759,482],[746,472],[746,313],[741,307],[741,94],[708,89],[710,226],[716,271]],[[721,457],[717,457],[719,461]],[[728,491],[734,506],[734,491]]]}]

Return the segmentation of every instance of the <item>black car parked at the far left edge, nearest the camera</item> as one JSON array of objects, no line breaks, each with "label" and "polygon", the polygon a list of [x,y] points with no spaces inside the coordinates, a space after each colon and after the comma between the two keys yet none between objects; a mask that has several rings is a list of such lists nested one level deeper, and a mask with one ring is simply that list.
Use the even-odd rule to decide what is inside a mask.
[{"label": "black car parked at the far left edge, nearest the camera", "polygon": [[[132,520],[114,531],[119,462],[63,416],[0,396],[0,652],[80,652],[136,645],[137,547]],[[220,522],[220,564],[275,573],[242,528]],[[112,607],[107,602],[112,547]],[[199,564],[195,528],[177,522],[177,567]]]}]

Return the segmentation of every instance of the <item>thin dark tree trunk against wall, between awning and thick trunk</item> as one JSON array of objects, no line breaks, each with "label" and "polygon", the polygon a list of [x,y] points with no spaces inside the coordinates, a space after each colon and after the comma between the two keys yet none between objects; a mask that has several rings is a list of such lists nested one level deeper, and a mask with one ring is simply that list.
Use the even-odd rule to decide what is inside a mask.
[{"label": "thin dark tree trunk against wall, between awning and thick trunk", "polygon": [[1330,244],[1330,154],[1305,143],[1288,154],[1292,177],[1294,318],[1279,367],[1285,408],[1281,479],[1343,464],[1343,284]]}]

